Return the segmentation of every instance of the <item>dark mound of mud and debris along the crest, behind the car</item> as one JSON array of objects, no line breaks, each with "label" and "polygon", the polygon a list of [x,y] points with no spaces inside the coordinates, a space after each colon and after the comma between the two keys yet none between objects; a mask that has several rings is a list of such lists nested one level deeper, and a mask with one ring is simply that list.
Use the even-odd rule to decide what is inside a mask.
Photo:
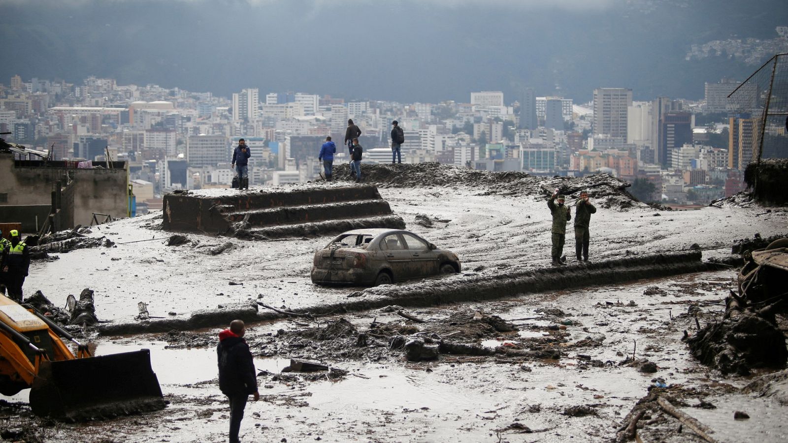
[{"label": "dark mound of mud and debris along the crest, behind the car", "polygon": [[[337,180],[349,180],[349,166],[334,166]],[[412,165],[362,164],[362,180],[378,186],[411,188],[424,186],[463,185],[479,188],[489,194],[543,195],[547,197],[557,188],[559,193],[575,195],[585,190],[594,199],[604,199],[608,207],[629,207],[641,204],[626,192],[630,184],[610,174],[593,174],[586,177],[536,177],[529,173],[506,171],[492,172],[478,169],[441,165],[436,162]]]}]

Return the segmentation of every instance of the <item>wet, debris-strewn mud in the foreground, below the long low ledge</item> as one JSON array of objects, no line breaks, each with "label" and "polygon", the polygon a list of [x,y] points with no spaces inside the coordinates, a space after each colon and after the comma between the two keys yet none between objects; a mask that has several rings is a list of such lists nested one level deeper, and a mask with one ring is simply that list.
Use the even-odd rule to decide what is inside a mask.
[{"label": "wet, debris-strewn mud in the foreground, below the long low ledge", "polygon": [[[251,327],[247,340],[262,398],[247,405],[241,436],[246,441],[437,441],[448,436],[455,441],[611,441],[637,400],[660,379],[667,389],[730,386],[727,394],[751,381],[721,378],[697,363],[680,341],[684,329],[695,328],[695,313],[704,324],[723,311],[720,302],[733,277],[732,271],[717,271],[488,303],[386,307],[260,323]],[[421,322],[403,318],[400,311]],[[30,418],[24,405],[9,405],[18,412],[0,426],[38,432],[41,441],[194,441],[195,435],[200,441],[223,441],[228,409],[217,389],[217,331],[99,337],[99,353],[151,348],[170,402],[165,411],[45,426]],[[411,362],[389,345],[392,337],[416,334],[492,352],[441,352],[436,359]],[[366,345],[359,343],[362,335]],[[526,354],[545,349],[556,350],[551,356],[557,358]],[[294,358],[337,371],[282,373]],[[10,401],[24,401],[24,391],[17,397]],[[779,441],[768,435],[762,440]]]}]

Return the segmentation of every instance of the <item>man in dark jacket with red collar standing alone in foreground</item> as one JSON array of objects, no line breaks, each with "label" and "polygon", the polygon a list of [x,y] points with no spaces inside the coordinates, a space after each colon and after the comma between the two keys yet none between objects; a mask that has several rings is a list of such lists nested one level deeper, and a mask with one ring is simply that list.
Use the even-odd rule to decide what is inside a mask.
[{"label": "man in dark jacket with red collar standing alone in foreground", "polygon": [[243,409],[249,395],[260,400],[257,389],[255,364],[249,345],[243,340],[246,326],[242,320],[233,320],[230,328],[219,333],[216,353],[219,361],[219,389],[230,400],[230,443],[238,443],[238,432],[243,420]]}]

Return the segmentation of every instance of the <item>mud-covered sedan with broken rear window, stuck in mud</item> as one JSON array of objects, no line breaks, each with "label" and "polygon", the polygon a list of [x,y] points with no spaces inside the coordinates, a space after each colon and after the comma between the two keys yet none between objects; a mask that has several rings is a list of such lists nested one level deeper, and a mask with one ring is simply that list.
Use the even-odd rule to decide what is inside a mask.
[{"label": "mud-covered sedan with broken rear window, stuck in mud", "polygon": [[459,272],[452,251],[402,229],[354,229],[314,253],[312,282],[318,285],[385,285],[409,278]]}]

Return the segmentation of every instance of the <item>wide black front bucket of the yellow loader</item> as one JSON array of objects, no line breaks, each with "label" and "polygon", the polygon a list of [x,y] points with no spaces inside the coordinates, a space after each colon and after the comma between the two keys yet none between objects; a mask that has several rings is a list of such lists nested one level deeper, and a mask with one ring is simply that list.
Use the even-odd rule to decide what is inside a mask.
[{"label": "wide black front bucket of the yellow loader", "polygon": [[30,389],[30,407],[35,415],[75,422],[157,411],[165,408],[165,400],[151,352],[141,349],[42,362]]}]

